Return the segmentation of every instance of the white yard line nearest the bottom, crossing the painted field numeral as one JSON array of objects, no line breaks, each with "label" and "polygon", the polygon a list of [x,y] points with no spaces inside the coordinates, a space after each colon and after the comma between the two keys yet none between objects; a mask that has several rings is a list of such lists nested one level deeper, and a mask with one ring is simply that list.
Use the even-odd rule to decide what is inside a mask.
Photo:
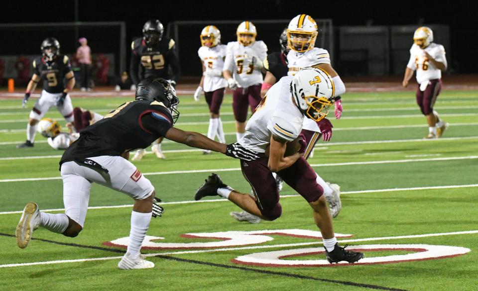
[{"label": "white yard line nearest the bottom, crossing the painted field numeral", "polygon": [[[354,243],[354,242],[363,242],[363,241],[395,240],[395,239],[406,239],[406,238],[423,238],[423,237],[477,234],[477,233],[478,233],[478,230],[469,230],[469,231],[455,231],[455,232],[442,232],[442,233],[426,233],[426,234],[416,234],[416,235],[400,235],[400,236],[386,236],[386,237],[369,237],[369,238],[359,238],[359,239],[344,239],[344,240],[339,240],[339,242],[341,242],[341,243],[349,243],[349,242]],[[194,250],[194,251],[176,251],[176,252],[165,252],[165,253],[149,253],[149,254],[146,254],[146,256],[147,257],[154,257],[154,256],[157,256],[157,255],[171,256],[171,255],[181,255],[181,254],[215,253],[215,252],[228,252],[228,251],[237,251],[237,250],[254,250],[254,249],[298,247],[298,246],[308,246],[308,245],[322,245],[322,242],[321,241],[315,241],[315,242],[294,243],[294,244],[249,246],[249,247],[221,248],[221,249]],[[92,258],[92,259],[73,259],[73,260],[32,262],[32,263],[17,263],[17,264],[0,265],[0,268],[26,267],[26,266],[37,266],[37,265],[52,265],[52,264],[62,264],[62,263],[79,263],[79,262],[90,262],[90,261],[119,260],[119,259],[121,259],[120,256],[113,256],[113,257]]]}]

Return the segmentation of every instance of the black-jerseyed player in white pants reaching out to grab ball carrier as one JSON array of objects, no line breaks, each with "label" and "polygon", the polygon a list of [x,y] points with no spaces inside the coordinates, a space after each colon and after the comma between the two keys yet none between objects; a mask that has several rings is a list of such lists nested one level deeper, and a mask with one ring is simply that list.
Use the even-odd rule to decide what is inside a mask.
[{"label": "black-jerseyed player in white pants reaching out to grab ball carrier", "polygon": [[173,127],[179,117],[178,102],[174,88],[166,80],[143,80],[136,88],[136,100],[120,105],[82,130],[60,160],[65,214],[40,212],[38,204],[27,203],[15,232],[18,247],[27,246],[38,226],[65,236],[77,236],[85,222],[91,184],[96,182],[135,200],[127,252],[118,267],[154,267],[154,263],[139,256],[139,251],[151,216],[161,216],[163,208],[157,203],[159,199],[153,199],[151,182],[128,161],[129,151],[148,147],[158,137],[166,137],[246,161],[258,158],[238,143],[226,145],[200,133]]}]

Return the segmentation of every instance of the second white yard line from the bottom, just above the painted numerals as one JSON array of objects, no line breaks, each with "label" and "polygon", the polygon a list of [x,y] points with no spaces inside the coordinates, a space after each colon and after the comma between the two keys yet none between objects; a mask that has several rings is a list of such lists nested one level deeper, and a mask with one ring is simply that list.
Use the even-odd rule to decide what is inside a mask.
[{"label": "second white yard line from the bottom, just above the painted numerals", "polygon": [[[449,186],[430,186],[430,187],[413,187],[413,188],[392,188],[392,189],[376,189],[376,190],[362,190],[362,191],[346,191],[341,192],[341,194],[363,194],[363,193],[382,193],[382,192],[397,192],[397,191],[420,191],[420,190],[436,190],[436,189],[457,189],[457,188],[475,188],[478,187],[478,184],[470,185],[449,185]],[[298,197],[299,194],[291,195],[280,195],[280,198],[288,197]],[[161,202],[161,205],[168,204],[191,204],[191,203],[214,203],[214,202],[225,202],[229,201],[228,199],[213,199],[213,200],[191,200],[191,201],[174,201],[174,202]],[[112,205],[112,206],[89,206],[88,209],[111,209],[111,208],[130,208],[133,204],[125,205]],[[54,209],[41,209],[43,212],[56,212],[56,211],[65,211],[65,208],[54,208]],[[23,211],[4,211],[0,212],[0,215],[3,214],[21,214]]]}]

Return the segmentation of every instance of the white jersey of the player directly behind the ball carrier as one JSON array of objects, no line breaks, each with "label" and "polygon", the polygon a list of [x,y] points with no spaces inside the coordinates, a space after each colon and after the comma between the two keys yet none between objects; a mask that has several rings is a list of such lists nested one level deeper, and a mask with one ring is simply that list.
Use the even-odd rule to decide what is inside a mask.
[{"label": "white jersey of the player directly behind the ball carrier", "polygon": [[[319,64],[330,64],[330,55],[327,50],[317,47],[303,53],[291,50],[287,54],[287,67],[289,67],[287,75],[294,76],[302,68]],[[320,132],[317,122],[310,118],[304,118],[303,129]]]}]

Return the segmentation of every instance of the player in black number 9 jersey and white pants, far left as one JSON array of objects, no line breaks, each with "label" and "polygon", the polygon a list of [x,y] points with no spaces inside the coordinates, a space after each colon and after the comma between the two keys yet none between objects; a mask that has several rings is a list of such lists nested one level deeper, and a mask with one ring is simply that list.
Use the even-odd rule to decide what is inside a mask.
[{"label": "player in black number 9 jersey and white pants, far left", "polygon": [[[73,105],[68,92],[75,86],[75,77],[71,70],[70,60],[60,54],[60,43],[48,37],[41,43],[42,56],[33,61],[33,76],[26,87],[22,106],[25,108],[28,98],[43,80],[43,91],[30,111],[30,119],[26,126],[26,142],[17,148],[33,147],[36,124],[52,106],[56,106],[67,122],[73,122]],[[66,79],[66,86],[64,85]]]}]

